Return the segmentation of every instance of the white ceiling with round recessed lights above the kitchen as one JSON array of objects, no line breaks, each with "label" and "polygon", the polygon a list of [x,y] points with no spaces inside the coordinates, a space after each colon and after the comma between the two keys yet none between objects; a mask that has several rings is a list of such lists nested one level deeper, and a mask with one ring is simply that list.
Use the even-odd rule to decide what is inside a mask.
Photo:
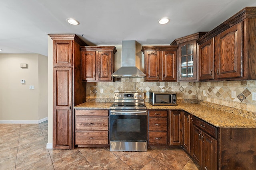
[{"label": "white ceiling with round recessed lights above the kitchen", "polygon": [[[256,0],[0,0],[0,53],[48,55],[48,34],[75,33],[88,45],[168,45],[210,31]],[[166,25],[158,24],[164,16]],[[70,25],[67,18],[79,25]]]}]

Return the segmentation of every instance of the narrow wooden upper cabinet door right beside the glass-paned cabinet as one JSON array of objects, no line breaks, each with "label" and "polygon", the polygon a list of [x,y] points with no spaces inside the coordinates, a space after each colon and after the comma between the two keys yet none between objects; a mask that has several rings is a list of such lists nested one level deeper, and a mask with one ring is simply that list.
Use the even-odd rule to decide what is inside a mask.
[{"label": "narrow wooden upper cabinet door right beside the glass-paned cabinet", "polygon": [[199,80],[214,79],[214,39],[199,45]]}]

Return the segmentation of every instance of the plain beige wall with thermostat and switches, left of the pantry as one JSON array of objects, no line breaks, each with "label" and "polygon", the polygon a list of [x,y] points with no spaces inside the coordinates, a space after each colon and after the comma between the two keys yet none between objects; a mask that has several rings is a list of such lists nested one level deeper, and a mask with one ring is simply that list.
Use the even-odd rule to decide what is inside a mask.
[{"label": "plain beige wall with thermostat and switches, left of the pantry", "polygon": [[[21,63],[28,68],[20,68]],[[47,118],[47,67],[46,56],[0,54],[0,122],[36,123]]]}]

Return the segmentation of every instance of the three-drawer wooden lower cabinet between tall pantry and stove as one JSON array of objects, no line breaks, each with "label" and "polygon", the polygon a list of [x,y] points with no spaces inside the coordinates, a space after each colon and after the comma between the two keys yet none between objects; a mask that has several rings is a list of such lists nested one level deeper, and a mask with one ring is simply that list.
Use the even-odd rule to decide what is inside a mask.
[{"label": "three-drawer wooden lower cabinet between tall pantry and stove", "polygon": [[76,109],[75,145],[106,147],[108,142],[108,109]]}]

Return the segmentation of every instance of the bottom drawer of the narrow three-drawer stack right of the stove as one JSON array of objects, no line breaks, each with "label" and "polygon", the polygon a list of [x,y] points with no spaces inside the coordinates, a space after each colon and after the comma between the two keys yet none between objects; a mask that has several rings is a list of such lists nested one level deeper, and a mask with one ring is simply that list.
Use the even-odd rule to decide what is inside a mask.
[{"label": "bottom drawer of the narrow three-drawer stack right of the stove", "polygon": [[167,132],[148,132],[148,145],[167,145]]}]

